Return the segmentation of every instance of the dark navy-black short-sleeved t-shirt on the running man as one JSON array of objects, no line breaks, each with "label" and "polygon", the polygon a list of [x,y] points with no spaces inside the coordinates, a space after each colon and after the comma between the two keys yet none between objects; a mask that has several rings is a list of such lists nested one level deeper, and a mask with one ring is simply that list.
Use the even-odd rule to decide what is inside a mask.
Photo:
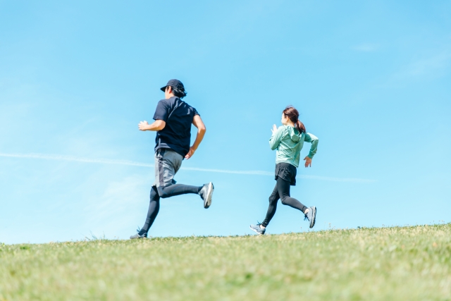
[{"label": "dark navy-black short-sleeved t-shirt on the running man", "polygon": [[190,152],[191,124],[196,109],[178,97],[161,99],[156,105],[154,120],[166,122],[163,130],[156,132],[155,152],[158,149],[172,149],[182,156]]}]

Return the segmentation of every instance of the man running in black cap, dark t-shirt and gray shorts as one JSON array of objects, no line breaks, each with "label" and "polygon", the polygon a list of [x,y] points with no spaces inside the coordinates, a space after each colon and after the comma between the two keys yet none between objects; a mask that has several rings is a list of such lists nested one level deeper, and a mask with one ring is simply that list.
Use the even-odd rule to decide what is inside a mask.
[{"label": "man running in black cap, dark t-shirt and gray shorts", "polygon": [[[184,102],[185,87],[180,80],[169,80],[161,88],[165,99],[156,106],[154,123],[141,121],[140,130],[156,131],[155,145],[155,182],[150,190],[150,204],[144,226],[130,239],[147,238],[147,232],[156,219],[160,209],[160,198],[195,193],[204,200],[204,208],[211,205],[213,183],[203,186],[175,184],[175,173],[182,166],[183,159],[190,159],[205,135],[205,125],[197,110]],[[191,124],[197,128],[197,137],[191,142]]]}]

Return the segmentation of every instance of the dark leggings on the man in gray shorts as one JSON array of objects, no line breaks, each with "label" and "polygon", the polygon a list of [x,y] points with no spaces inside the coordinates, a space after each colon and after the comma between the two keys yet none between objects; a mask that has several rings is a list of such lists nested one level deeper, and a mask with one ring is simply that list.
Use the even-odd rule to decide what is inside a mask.
[{"label": "dark leggings on the man in gray shorts", "polygon": [[190,186],[183,184],[174,184],[166,187],[152,186],[150,190],[150,204],[149,210],[147,211],[147,218],[144,226],[140,230],[140,235],[149,232],[149,228],[154,223],[158,211],[160,210],[160,197],[165,199],[166,197],[174,197],[175,195],[186,195],[187,193],[199,193],[202,186]]}]

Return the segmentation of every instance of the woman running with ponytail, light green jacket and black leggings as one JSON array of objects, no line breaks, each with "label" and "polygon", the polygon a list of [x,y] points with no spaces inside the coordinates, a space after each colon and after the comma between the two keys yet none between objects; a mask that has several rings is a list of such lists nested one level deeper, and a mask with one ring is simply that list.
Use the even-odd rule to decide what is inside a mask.
[{"label": "woman running with ponytail, light green jacket and black leggings", "polygon": [[310,228],[315,226],[316,207],[305,207],[297,199],[290,197],[290,185],[296,185],[296,171],[299,166],[299,156],[304,141],[311,142],[310,153],[304,158],[305,167],[311,166],[311,159],[316,154],[318,138],[305,130],[304,124],[299,121],[299,112],[293,106],[287,106],[282,113],[282,124],[280,128],[273,125],[273,135],[269,140],[269,146],[276,152],[276,187],[269,196],[269,207],[263,223],[251,225],[252,231],[263,235],[266,226],[273,218],[277,209],[277,202],[282,200],[282,204],[288,205],[302,211],[305,219],[310,222]]}]

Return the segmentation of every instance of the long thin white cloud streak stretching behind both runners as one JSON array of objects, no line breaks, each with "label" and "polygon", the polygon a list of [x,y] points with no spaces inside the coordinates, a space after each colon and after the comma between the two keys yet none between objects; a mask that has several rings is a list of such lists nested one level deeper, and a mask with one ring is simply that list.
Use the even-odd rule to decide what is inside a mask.
[{"label": "long thin white cloud streak stretching behind both runners", "polygon": [[[89,159],[80,158],[78,156],[65,156],[61,154],[7,154],[0,153],[0,157],[10,158],[24,158],[24,159],[46,159],[46,160],[59,160],[59,161],[74,161],[83,163],[95,163],[95,164],[119,164],[128,166],[141,166],[141,167],[154,167],[154,164],[146,164],[136,161],[128,160],[114,160],[114,159]],[[185,171],[206,171],[210,173],[233,173],[239,175],[257,175],[257,176],[274,176],[274,173],[269,171],[231,171],[227,169],[213,169],[213,168],[197,168],[197,167],[182,167]],[[334,182],[354,182],[354,183],[373,183],[376,180],[361,179],[361,178],[331,178],[323,176],[304,176],[300,175],[299,178],[307,178],[312,180],[328,180]]]}]

